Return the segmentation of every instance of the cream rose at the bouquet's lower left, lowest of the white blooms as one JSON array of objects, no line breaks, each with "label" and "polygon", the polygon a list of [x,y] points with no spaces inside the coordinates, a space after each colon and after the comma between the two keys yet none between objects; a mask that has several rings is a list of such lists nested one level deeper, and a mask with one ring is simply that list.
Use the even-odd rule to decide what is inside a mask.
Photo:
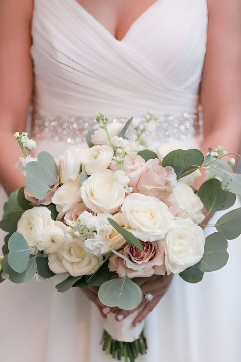
[{"label": "cream rose at the bouquet's lower left, lowest of the white blooms", "polygon": [[49,254],[49,268],[55,274],[69,272],[72,276],[93,274],[101,265],[103,258],[89,254],[84,242],[78,238],[64,245],[54,254]]}]

